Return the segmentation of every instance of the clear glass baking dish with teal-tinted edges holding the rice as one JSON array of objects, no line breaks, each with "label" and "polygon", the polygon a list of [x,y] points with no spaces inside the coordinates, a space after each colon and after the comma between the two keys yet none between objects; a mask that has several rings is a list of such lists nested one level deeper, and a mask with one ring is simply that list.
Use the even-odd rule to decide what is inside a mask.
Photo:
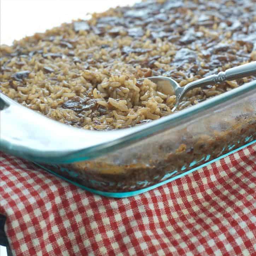
[{"label": "clear glass baking dish with teal-tinted edges holding the rice", "polygon": [[[36,115],[42,120],[41,128],[36,120],[35,127],[31,122],[25,127],[28,120],[22,123],[18,115],[14,117],[12,104],[21,109],[19,116],[24,111]],[[0,109],[1,123],[10,124],[8,132],[1,130],[2,151],[29,159],[85,190],[109,197],[151,190],[256,142],[256,81],[173,115],[118,131],[69,127],[3,95]],[[98,133],[104,133],[107,139],[88,146],[90,136]],[[66,145],[70,150],[64,150]]]}]

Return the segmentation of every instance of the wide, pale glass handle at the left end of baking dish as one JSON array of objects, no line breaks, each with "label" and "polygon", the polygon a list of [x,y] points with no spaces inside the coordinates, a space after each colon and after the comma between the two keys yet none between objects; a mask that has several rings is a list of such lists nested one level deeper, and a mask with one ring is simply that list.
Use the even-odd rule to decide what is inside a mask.
[{"label": "wide, pale glass handle at the left end of baking dish", "polygon": [[[88,146],[88,138],[91,137],[93,135],[89,131],[54,121],[0,93],[0,150],[2,151],[13,155],[15,153],[16,156],[27,159],[41,158],[42,155],[51,158],[83,149]],[[95,138],[97,139],[97,134]]]}]

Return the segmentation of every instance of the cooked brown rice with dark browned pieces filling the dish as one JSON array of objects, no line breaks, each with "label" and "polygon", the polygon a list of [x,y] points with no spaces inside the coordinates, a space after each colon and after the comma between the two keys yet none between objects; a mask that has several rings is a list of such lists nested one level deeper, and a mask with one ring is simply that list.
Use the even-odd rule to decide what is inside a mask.
[{"label": "cooked brown rice with dark browned pieces filling the dish", "polygon": [[[256,60],[255,1],[147,1],[1,46],[0,89],[30,109],[85,129],[118,129],[171,114],[181,86]],[[254,77],[255,78],[255,77]],[[177,111],[243,78],[188,92]]]}]

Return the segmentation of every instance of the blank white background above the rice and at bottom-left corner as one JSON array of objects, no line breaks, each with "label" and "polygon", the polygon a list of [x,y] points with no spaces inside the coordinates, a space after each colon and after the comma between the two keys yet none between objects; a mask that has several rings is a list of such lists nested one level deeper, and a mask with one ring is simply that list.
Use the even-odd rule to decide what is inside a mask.
[{"label": "blank white background above the rice and at bottom-left corner", "polygon": [[[44,32],[87,13],[103,12],[138,0],[0,0],[0,44],[11,45],[36,32]],[[7,256],[0,246],[0,256]]]}]

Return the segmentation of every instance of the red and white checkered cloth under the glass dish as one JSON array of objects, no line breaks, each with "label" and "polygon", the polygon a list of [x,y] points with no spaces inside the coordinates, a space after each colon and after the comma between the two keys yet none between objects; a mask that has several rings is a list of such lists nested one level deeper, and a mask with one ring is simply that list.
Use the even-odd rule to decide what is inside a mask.
[{"label": "red and white checkered cloth under the glass dish", "polygon": [[150,192],[105,198],[1,153],[14,255],[255,255],[256,144]]}]

